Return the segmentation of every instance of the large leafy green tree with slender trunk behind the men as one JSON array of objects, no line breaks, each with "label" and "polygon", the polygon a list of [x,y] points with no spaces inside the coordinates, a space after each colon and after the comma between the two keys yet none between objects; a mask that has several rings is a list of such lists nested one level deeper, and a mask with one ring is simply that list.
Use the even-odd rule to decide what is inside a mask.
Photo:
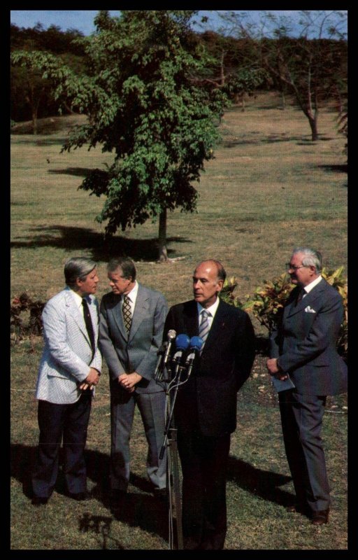
[{"label": "large leafy green tree with slender trunk behind the men", "polygon": [[[80,188],[104,195],[99,222],[113,235],[159,217],[159,260],[167,259],[167,212],[194,211],[203,162],[213,158],[225,95],[196,83],[204,52],[190,29],[193,10],[128,10],[120,18],[99,12],[96,32],[80,39],[87,76],[78,77],[44,53],[31,63],[45,69],[56,97],[87,114],[63,150],[99,144],[113,153]],[[23,52],[17,64],[29,64]],[[26,62],[26,60],[28,62]]]}]

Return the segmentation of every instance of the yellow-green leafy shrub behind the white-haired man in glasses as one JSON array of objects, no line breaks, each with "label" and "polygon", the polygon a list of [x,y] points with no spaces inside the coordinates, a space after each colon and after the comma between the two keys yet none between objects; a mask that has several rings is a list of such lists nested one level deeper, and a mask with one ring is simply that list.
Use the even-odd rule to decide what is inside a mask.
[{"label": "yellow-green leafy shrub behind the white-haired man in glasses", "polygon": [[[343,267],[336,270],[323,268],[322,276],[331,286],[336,288],[343,297],[344,318],[337,340],[338,352],[348,360],[348,286],[347,279],[343,276]],[[252,297],[248,296],[246,302],[241,302],[235,297],[234,290],[237,286],[235,276],[224,282],[220,292],[222,300],[235,305],[244,311],[251,311],[259,323],[267,328],[268,334],[278,325],[283,306],[294,284],[291,283],[289,274],[281,274],[271,281],[264,281],[264,287],[256,288]]]}]

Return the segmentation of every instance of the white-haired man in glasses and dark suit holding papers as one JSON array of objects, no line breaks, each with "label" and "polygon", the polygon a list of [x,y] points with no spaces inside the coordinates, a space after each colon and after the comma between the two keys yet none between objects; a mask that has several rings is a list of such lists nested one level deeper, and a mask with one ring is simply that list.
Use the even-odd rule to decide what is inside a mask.
[{"label": "white-haired man in glasses and dark suit holding papers", "polygon": [[268,372],[292,380],[280,391],[282,433],[296,504],[290,511],[307,514],[313,524],[329,518],[329,482],[320,437],[327,395],[347,391],[347,365],[336,341],[343,321],[343,301],[321,276],[322,257],[296,248],[287,265],[292,283],[279,328],[271,336]]}]

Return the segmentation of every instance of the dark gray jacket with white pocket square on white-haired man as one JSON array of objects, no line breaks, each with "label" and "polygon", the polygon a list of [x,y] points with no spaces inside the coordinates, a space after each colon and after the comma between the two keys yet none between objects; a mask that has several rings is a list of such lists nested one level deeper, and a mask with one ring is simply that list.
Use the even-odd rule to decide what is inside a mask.
[{"label": "dark gray jacket with white pocket square on white-haired man", "polygon": [[336,349],[343,321],[343,301],[338,291],[322,279],[296,303],[294,288],[271,336],[271,357],[280,356],[280,366],[296,386],[308,395],[336,395],[347,391],[347,365]]}]

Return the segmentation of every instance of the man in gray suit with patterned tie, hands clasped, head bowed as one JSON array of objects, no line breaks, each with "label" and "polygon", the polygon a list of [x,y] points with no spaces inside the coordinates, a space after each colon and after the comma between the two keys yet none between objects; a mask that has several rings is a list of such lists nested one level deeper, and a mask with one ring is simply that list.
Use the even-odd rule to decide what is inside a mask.
[{"label": "man in gray suit with patterned tie, hands clasped, head bowed", "polygon": [[129,440],[136,404],[148,442],[148,478],[158,497],[166,493],[166,454],[159,458],[166,392],[153,376],[167,304],[162,293],[136,281],[136,267],[129,258],[110,260],[108,279],[112,293],[101,300],[99,347],[110,375],[110,488],[115,507],[129,484]]}]

